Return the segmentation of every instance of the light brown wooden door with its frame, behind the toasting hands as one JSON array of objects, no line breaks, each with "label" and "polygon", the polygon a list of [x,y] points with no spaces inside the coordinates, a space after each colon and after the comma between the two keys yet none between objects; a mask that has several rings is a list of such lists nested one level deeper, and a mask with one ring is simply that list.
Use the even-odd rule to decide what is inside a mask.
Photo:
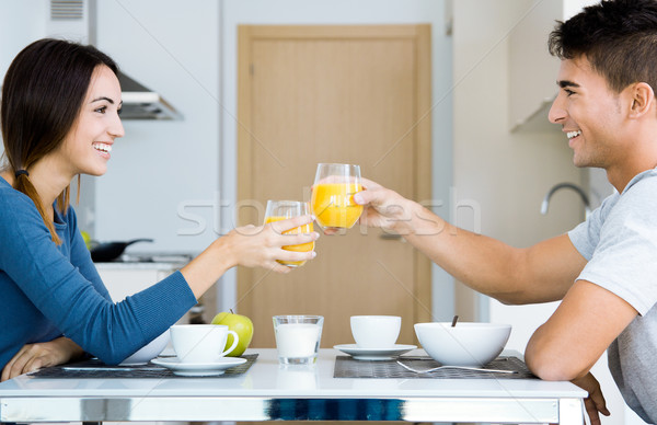
[{"label": "light brown wooden door with its frame, behind the toasting hands", "polygon": [[[240,218],[267,199],[310,199],[319,162],[360,164],[406,197],[430,197],[429,25],[239,27]],[[315,223],[315,229],[319,227]],[[324,315],[322,347],[354,340],[349,317],[402,317],[397,343],[430,321],[430,263],[401,239],[356,225],[322,236],[287,275],[238,272],[252,347],[275,347],[272,315]]]}]

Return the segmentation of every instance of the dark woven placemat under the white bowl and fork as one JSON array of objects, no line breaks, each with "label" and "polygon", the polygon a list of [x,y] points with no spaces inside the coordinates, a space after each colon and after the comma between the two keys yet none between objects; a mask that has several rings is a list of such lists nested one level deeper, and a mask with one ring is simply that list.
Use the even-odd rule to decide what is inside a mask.
[{"label": "dark woven placemat under the white bowl and fork", "polygon": [[[429,356],[402,356],[397,359],[417,370],[440,366]],[[458,368],[439,369],[427,374],[416,374],[393,360],[357,360],[350,356],[335,357],[334,378],[430,378],[430,379],[539,379],[529,371],[525,361],[517,357],[497,357],[484,369],[512,370],[515,374],[466,370]]]}]

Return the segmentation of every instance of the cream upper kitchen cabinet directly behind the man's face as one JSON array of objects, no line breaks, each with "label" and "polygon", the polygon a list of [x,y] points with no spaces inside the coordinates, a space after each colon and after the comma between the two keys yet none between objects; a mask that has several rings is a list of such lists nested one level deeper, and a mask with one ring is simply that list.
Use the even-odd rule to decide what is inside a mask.
[{"label": "cream upper kitchen cabinet directly behind the man's face", "polygon": [[560,60],[548,51],[548,36],[555,21],[565,21],[597,0],[526,0],[509,35],[509,128],[556,130],[548,120],[554,100]]}]

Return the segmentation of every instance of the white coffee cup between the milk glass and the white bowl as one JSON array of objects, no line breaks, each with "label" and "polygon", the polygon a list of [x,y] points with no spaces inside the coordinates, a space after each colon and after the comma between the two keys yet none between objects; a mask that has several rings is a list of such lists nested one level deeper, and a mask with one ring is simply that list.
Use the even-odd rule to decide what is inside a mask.
[{"label": "white coffee cup between the milk glass and the white bowl", "polygon": [[399,315],[351,315],[350,322],[359,348],[391,348],[402,329]]}]

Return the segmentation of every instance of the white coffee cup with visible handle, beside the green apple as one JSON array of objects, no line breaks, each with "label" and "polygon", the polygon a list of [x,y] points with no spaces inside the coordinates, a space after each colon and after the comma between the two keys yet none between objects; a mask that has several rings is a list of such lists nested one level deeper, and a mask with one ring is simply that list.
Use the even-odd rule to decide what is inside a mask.
[{"label": "white coffee cup with visible handle, beside the green apple", "polygon": [[[223,324],[175,324],[171,326],[171,343],[181,363],[212,363],[232,352],[240,337]],[[233,344],[224,352],[228,334]]]}]

